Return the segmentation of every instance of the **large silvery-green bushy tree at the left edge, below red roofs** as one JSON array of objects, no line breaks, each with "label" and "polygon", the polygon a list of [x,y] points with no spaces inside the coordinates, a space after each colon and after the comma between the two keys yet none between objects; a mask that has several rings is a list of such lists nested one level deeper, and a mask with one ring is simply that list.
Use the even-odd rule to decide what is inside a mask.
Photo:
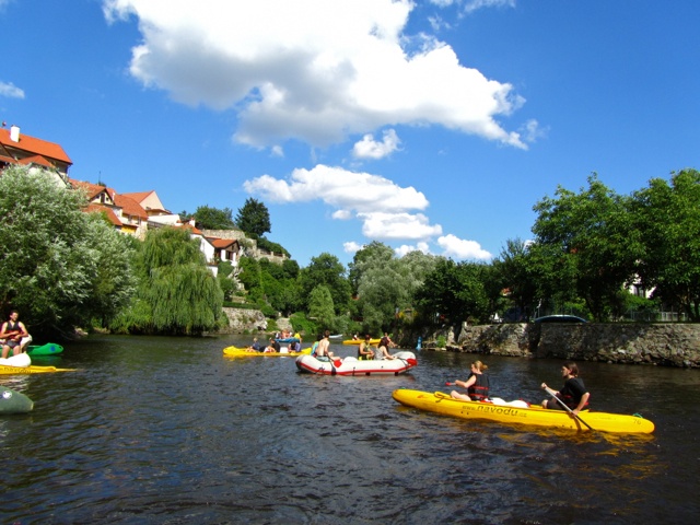
[{"label": "large silvery-green bushy tree at the left edge, below red roofs", "polygon": [[0,175],[0,303],[19,310],[34,337],[106,320],[132,292],[129,240],[85,205],[49,172]]}]

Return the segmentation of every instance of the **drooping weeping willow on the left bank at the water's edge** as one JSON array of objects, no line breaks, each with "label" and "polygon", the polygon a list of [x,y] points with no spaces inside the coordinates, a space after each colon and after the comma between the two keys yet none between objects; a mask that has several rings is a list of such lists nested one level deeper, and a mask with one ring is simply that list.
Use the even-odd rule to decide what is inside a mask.
[{"label": "drooping weeping willow on the left bank at the water's edge", "polygon": [[200,335],[223,318],[223,292],[189,231],[149,231],[135,260],[139,287],[118,331]]}]

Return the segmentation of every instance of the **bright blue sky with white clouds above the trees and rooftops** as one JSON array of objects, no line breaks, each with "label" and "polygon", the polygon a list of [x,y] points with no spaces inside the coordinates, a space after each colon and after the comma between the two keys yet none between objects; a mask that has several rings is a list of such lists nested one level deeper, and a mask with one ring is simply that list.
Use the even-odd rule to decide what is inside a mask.
[{"label": "bright blue sky with white clouds above the trees and rooftops", "polygon": [[301,266],[488,261],[596,172],[700,168],[696,0],[0,0],[0,120],[173,212],[266,203]]}]

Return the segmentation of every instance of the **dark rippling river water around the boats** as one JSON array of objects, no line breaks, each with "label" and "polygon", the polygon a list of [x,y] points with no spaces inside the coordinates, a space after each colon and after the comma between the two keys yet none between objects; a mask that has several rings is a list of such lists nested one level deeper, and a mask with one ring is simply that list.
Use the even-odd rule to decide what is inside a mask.
[{"label": "dark rippling river water around the boats", "polygon": [[[700,371],[580,363],[594,408],[652,435],[533,430],[401,407],[469,354],[417,352],[409,374],[316,376],[232,359],[249,338],[90,337],[75,372],[0,376],[30,415],[0,417],[2,524],[696,523]],[[353,352],[340,345],[341,355]],[[492,394],[538,402],[560,361],[481,358]]]}]

